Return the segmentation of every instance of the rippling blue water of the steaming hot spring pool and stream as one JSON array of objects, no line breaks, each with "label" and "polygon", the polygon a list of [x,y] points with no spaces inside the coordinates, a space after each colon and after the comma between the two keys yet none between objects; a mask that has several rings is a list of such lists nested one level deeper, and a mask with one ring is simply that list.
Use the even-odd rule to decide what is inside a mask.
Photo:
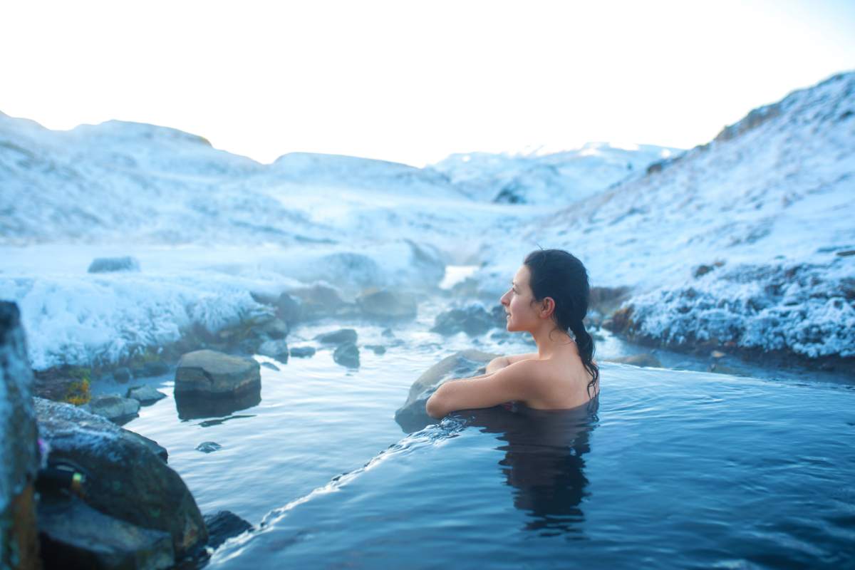
[{"label": "rippling blue water of the steaming hot spring pool and stream", "polygon": [[596,408],[407,436],[410,384],[472,346],[423,324],[397,346],[359,327],[388,350],[358,370],[329,350],[262,368],[262,402],[225,421],[181,421],[170,397],[126,426],[167,447],[203,513],[260,526],[210,567],[855,567],[855,386],[603,363]]}]

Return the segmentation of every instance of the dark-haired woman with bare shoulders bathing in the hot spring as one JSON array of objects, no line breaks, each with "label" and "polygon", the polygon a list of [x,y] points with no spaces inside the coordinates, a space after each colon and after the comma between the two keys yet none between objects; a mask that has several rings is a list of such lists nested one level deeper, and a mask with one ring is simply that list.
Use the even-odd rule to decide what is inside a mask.
[{"label": "dark-haired woman with bare shoulders bathing in the hot spring", "polygon": [[568,409],[597,397],[599,369],[593,361],[593,338],[582,324],[588,291],[585,266],[575,256],[563,250],[528,254],[501,303],[508,330],[530,333],[538,351],[501,356],[490,361],[481,376],[439,386],[428,399],[428,414],[441,418],[458,409],[507,402],[535,409]]}]

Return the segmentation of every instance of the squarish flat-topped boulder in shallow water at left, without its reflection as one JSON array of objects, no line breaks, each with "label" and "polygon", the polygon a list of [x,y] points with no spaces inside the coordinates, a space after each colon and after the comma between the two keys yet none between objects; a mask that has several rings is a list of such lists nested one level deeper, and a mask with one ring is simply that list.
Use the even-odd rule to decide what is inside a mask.
[{"label": "squarish flat-topped boulder in shallow water at left, without its reflection", "polygon": [[196,350],[181,356],[175,371],[175,395],[230,397],[261,391],[257,361],[215,350]]}]

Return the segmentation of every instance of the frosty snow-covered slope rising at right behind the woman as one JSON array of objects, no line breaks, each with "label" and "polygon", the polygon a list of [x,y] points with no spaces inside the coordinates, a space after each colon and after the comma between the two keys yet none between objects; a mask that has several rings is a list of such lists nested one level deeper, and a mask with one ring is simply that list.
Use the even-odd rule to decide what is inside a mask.
[{"label": "frosty snow-covered slope rising at right behind the woman", "polygon": [[635,287],[641,336],[855,356],[855,256],[840,255],[855,250],[855,73],[650,170],[528,224],[493,279],[534,244],[563,247],[594,285]]}]

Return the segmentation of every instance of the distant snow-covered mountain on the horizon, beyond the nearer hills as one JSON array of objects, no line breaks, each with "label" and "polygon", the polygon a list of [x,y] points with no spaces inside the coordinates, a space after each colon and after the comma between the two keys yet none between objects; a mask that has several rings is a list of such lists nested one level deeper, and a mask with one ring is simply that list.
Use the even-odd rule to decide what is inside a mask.
[{"label": "distant snow-covered mountain on the horizon, beyond the nearer hills", "polygon": [[456,154],[433,169],[477,200],[566,205],[636,178],[652,163],[681,152],[652,144],[622,148],[588,143],[581,149],[548,154]]}]

